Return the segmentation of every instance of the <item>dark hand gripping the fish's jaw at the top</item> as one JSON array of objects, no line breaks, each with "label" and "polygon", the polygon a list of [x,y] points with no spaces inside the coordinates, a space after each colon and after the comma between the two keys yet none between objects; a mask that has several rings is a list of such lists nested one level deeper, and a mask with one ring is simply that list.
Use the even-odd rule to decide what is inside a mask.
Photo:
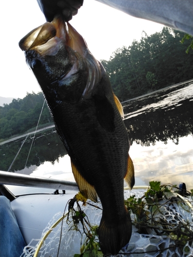
[{"label": "dark hand gripping the fish's jaw at the top", "polygon": [[58,14],[68,22],[78,13],[83,0],[37,0],[47,22],[51,22]]}]

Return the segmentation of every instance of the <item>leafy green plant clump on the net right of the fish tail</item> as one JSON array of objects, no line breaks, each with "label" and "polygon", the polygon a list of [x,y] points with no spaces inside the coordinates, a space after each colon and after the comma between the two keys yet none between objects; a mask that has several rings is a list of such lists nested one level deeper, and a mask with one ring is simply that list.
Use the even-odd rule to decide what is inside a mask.
[{"label": "leafy green plant clump on the net right of the fish tail", "polygon": [[[175,191],[174,191],[175,190]],[[190,212],[189,200],[181,197],[176,185],[161,185],[160,181],[150,181],[147,192],[141,198],[135,195],[125,200],[125,204],[134,214],[132,221],[139,233],[148,234],[148,230],[154,230],[157,235],[167,235],[175,241],[175,245],[181,249],[187,241],[193,241],[193,227],[188,220],[184,220],[178,211]],[[175,220],[170,218],[174,216]]]}]

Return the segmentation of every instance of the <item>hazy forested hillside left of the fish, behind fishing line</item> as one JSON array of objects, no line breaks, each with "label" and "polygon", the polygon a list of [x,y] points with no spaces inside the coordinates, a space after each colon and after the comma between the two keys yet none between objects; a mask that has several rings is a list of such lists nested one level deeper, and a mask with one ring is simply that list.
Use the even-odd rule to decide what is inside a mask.
[{"label": "hazy forested hillside left of the fish, behind fishing line", "polygon": [[[0,106],[0,139],[23,134],[39,125],[53,122],[42,92],[27,93],[23,99],[13,99],[10,104]],[[43,107],[43,110],[42,110]]]}]

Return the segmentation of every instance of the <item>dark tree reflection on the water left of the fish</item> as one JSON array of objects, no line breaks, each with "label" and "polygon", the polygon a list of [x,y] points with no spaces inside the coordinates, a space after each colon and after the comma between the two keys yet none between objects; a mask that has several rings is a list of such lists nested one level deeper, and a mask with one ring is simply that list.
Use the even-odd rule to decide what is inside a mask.
[{"label": "dark tree reflection on the water left of the fish", "polygon": [[[20,138],[0,145],[0,170],[7,171],[9,169],[9,166],[19,151],[23,140],[24,138]],[[30,154],[28,156],[29,150]],[[27,138],[26,142],[22,146],[19,156],[11,168],[11,171],[26,170],[25,174],[29,174],[27,169],[24,169],[25,167],[30,168],[30,170],[33,171],[36,169],[34,167],[39,167],[46,161],[51,162],[52,164],[59,162],[59,158],[63,157],[65,154],[67,154],[66,150],[53,128],[51,131],[46,130],[43,133],[39,132],[36,134],[34,139],[31,135]],[[31,166],[34,167],[32,168]]]}]

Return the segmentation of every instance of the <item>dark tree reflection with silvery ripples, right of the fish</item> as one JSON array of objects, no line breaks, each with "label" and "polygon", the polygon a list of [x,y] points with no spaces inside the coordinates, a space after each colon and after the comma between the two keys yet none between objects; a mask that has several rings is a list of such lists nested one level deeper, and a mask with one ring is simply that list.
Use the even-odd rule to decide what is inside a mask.
[{"label": "dark tree reflection with silvery ripples, right of the fish", "polygon": [[132,100],[124,107],[131,144],[149,146],[157,141],[174,144],[192,135],[193,84],[174,86],[148,97]]}]

